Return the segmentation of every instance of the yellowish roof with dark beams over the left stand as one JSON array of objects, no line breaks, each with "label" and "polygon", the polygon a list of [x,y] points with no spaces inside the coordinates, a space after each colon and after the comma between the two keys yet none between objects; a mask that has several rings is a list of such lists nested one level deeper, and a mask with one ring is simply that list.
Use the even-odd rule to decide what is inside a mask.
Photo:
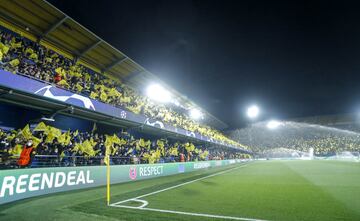
[{"label": "yellowish roof with dark beams over the left stand", "polygon": [[186,108],[198,108],[207,123],[217,129],[227,125],[200,108],[187,97],[167,87],[154,74],[124,53],[70,18],[45,0],[2,0],[0,22],[21,31],[24,36],[77,59],[80,63],[126,84],[141,89],[151,82],[163,84]]}]

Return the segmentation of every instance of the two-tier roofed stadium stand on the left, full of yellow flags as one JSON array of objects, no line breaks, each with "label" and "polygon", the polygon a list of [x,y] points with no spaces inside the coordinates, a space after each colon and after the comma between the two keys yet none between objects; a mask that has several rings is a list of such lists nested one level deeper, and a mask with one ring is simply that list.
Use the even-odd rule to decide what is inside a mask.
[{"label": "two-tier roofed stadium stand on the left, full of yellow flags", "polygon": [[[35,27],[40,25],[32,22],[37,16],[18,14],[17,10],[14,10],[25,6],[37,10],[45,17],[49,16],[46,21],[50,23],[43,24],[44,27]],[[42,30],[42,33],[39,33],[39,30]],[[66,33],[68,31],[71,33]],[[50,40],[54,35],[56,40]],[[60,41],[62,43],[59,43]],[[35,118],[20,119],[19,122],[8,125],[0,121],[2,169],[102,165],[105,156],[110,156],[111,164],[250,158],[246,146],[229,139],[218,130],[224,128],[224,125],[212,115],[207,113],[208,118],[215,123],[200,123],[191,119],[188,115],[189,108],[196,105],[178,92],[171,90],[176,99],[181,101],[178,105],[149,99],[140,88],[148,82],[148,79],[141,77],[144,73],[152,76],[151,73],[46,1],[29,1],[24,2],[24,5],[14,4],[12,1],[4,2],[0,8],[0,69],[4,70],[0,77],[10,82],[1,84],[0,88],[0,92],[6,94],[0,97],[1,102],[4,102],[0,112],[4,115],[14,109],[6,106],[6,103],[15,105],[16,108],[25,108],[20,112],[31,116],[33,112],[42,116],[48,115],[49,119],[55,118],[55,115],[65,118],[71,115],[87,123],[98,122],[99,125],[103,123],[116,127],[110,130],[111,132],[101,129],[89,131],[89,128],[80,129],[80,124],[75,122],[64,126],[61,122],[48,124],[45,121],[45,124],[39,119],[34,122]],[[76,105],[64,101],[61,101],[64,103],[63,107],[58,103],[58,106],[52,106],[52,102],[58,100],[48,101],[48,97],[39,97],[35,91],[30,91],[26,97],[21,94],[16,97],[19,100],[15,101],[11,94],[14,91],[24,92],[22,87],[26,86],[19,84],[18,88],[13,87],[13,76],[17,77],[17,82],[37,82],[35,84],[41,85],[41,89],[52,87],[58,92],[61,89],[61,93],[56,95],[59,97],[79,95],[88,101],[92,99],[102,105],[106,104],[106,108],[116,107],[128,111],[126,113],[143,117],[139,118],[140,122],[136,122],[137,124],[132,124],[130,118],[115,121],[113,115],[106,115],[108,112],[101,115],[95,108],[84,111],[82,106],[76,109]],[[134,87],[134,82],[138,82],[141,87]],[[23,105],[27,98],[37,99],[39,103]],[[44,106],[39,106],[45,100],[44,105],[48,105],[46,111]],[[80,112],[87,115],[80,115]],[[5,118],[6,116],[3,116],[1,120]],[[146,123],[149,119],[152,122]],[[115,123],[107,124],[108,121]],[[154,126],[154,122],[171,125],[171,137],[169,130],[161,131],[162,127]],[[145,124],[153,128],[150,130],[145,127],[145,130]],[[213,125],[216,125],[216,129]],[[135,133],[132,128],[135,128]],[[180,130],[183,131],[180,133]]]}]

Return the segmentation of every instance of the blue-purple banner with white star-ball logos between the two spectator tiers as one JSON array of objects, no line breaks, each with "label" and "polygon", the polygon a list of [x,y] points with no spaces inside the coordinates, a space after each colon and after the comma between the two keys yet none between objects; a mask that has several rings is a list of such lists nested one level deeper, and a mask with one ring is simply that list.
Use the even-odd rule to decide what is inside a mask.
[{"label": "blue-purple banner with white star-ball logos between the two spectator tiers", "polygon": [[[89,97],[85,97],[79,94],[74,94],[70,91],[58,88],[54,85],[40,82],[25,76],[12,74],[4,70],[0,70],[0,85],[10,89],[15,89],[30,94],[36,94],[38,96],[44,96],[47,98],[55,99],[57,101],[65,102],[73,106],[86,108],[113,117],[122,118],[128,121],[134,121],[141,124],[146,124],[149,126],[161,128],[167,131],[172,131],[189,137],[194,137],[199,140],[226,145],[221,141],[213,140],[212,138],[202,136],[201,134],[187,131],[182,128],[176,128],[172,125],[165,124],[161,121],[153,120],[143,115],[134,114],[130,111],[121,109],[119,107],[114,107],[112,105],[105,104],[97,100],[93,100]],[[230,146],[230,145],[226,145],[226,146]]]}]

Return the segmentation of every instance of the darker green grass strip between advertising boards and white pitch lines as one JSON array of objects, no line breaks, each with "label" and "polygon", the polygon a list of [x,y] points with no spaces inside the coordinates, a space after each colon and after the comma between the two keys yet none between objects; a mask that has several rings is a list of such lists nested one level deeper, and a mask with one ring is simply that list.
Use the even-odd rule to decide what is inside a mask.
[{"label": "darker green grass strip between advertising boards and white pitch lines", "polygon": [[[229,167],[217,167],[191,173],[115,184],[112,187],[112,193],[117,195],[117,197],[122,197],[122,199],[125,196],[126,198],[134,197],[139,195],[139,191],[142,193],[151,192],[159,187],[165,188],[169,185],[175,185],[194,179],[194,177],[205,176],[227,168]],[[97,220],[86,216],[86,214],[98,214],[111,219],[113,218],[111,214],[114,209],[107,209],[109,207],[104,202],[104,186],[54,193],[1,205],[0,220]],[[46,209],[44,210],[44,208]],[[19,213],[18,211],[22,212]],[[127,211],[126,215],[122,214],[122,216],[124,217],[123,220],[140,219],[140,214],[133,213],[132,211]],[[153,220],[166,220],[164,216],[153,215],[153,217],[156,217]],[[119,219],[118,216],[116,216],[116,219]],[[177,220],[181,219],[178,218]]]}]

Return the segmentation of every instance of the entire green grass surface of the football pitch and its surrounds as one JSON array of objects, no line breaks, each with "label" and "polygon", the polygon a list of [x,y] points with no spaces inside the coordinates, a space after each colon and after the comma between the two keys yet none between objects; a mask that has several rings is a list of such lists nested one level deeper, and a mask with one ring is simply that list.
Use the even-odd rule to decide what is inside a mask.
[{"label": "entire green grass surface of the football pitch and its surrounds", "polygon": [[[112,202],[228,168],[113,185]],[[142,198],[147,207],[266,220],[360,220],[360,163],[264,161]],[[138,206],[138,204],[133,204]],[[0,220],[220,220],[105,205],[105,188],[0,206]]]}]

